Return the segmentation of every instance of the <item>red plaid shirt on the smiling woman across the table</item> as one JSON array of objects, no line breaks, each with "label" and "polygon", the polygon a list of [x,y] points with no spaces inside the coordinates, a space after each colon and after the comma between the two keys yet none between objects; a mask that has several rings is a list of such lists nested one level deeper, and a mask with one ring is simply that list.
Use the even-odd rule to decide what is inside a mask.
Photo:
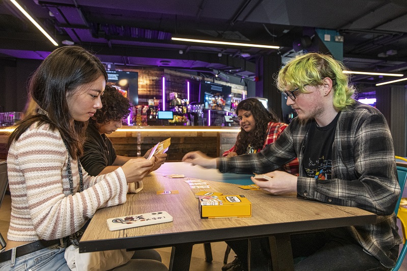
[{"label": "red plaid shirt on the smiling woman across the table", "polygon": [[[263,147],[257,149],[257,153],[260,152],[260,150],[264,149],[267,145],[276,141],[277,138],[280,136],[280,134],[287,127],[288,127],[288,125],[285,123],[269,122],[269,125],[267,126],[266,140],[264,141]],[[222,156],[227,156],[229,153],[232,153],[232,152],[236,153],[236,145],[232,146],[231,149],[226,150],[226,152],[224,152]],[[284,164],[282,166],[282,169],[284,169],[284,171],[286,171],[290,174],[294,174],[294,175],[298,176],[298,159],[295,158],[294,160]]]}]

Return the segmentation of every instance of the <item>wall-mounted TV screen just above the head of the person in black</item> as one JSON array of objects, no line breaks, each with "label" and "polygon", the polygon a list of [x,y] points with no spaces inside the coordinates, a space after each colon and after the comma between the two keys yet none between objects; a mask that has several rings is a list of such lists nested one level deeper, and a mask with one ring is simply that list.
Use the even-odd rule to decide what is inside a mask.
[{"label": "wall-mounted TV screen just above the head of the person in black", "polygon": [[138,73],[106,71],[107,84],[112,85],[128,98],[132,105],[138,105]]}]

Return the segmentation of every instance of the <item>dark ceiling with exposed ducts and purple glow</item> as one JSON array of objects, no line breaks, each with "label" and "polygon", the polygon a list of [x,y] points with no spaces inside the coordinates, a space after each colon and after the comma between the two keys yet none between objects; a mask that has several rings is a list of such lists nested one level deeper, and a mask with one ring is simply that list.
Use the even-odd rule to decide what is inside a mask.
[{"label": "dark ceiling with exposed ducts and purple glow", "polygon": [[[343,36],[350,70],[407,75],[407,0],[17,0],[60,46],[64,40],[95,52],[104,63],[170,67],[202,75],[255,76],[261,55],[292,57],[293,42],[327,51],[315,29]],[[261,49],[198,46],[171,37],[280,46]],[[55,49],[11,4],[0,0],[0,61],[43,59]],[[301,49],[301,48],[299,48]],[[296,48],[296,50],[299,50]],[[393,77],[354,76],[359,86]],[[404,81],[405,82],[405,81]]]}]

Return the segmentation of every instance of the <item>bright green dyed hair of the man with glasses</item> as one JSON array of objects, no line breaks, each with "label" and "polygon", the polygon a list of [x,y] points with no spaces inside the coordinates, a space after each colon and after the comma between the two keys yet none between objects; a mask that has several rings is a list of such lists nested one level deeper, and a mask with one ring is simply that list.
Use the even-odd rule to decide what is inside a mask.
[{"label": "bright green dyed hair of the man with glasses", "polygon": [[332,79],[334,91],[333,105],[335,109],[342,110],[355,103],[353,99],[355,87],[349,84],[349,77],[342,72],[343,70],[344,65],[331,55],[320,53],[298,55],[279,71],[277,88],[280,91],[299,88],[300,92],[306,93],[305,85],[321,85],[324,78],[329,77]]}]

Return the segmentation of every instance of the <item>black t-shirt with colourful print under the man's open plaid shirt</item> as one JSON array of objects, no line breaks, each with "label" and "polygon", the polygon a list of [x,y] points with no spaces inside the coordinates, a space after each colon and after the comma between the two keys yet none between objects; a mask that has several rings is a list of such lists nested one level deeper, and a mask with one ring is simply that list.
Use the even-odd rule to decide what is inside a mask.
[{"label": "black t-shirt with colourful print under the man's open plaid shirt", "polygon": [[303,167],[308,177],[331,179],[332,144],[339,114],[327,126],[318,127],[315,121],[310,126],[303,155]]}]

